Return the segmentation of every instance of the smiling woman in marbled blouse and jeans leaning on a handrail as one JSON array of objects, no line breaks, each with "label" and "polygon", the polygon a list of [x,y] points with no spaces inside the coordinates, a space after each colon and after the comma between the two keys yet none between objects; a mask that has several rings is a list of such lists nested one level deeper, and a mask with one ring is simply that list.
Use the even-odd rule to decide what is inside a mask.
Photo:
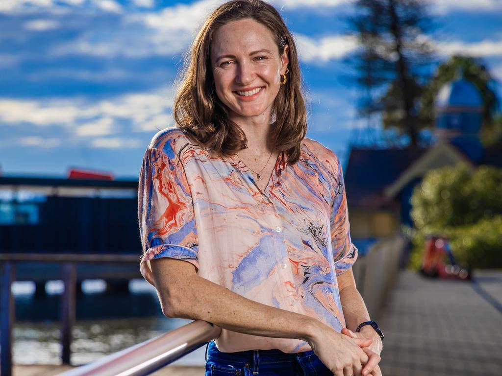
[{"label": "smiling woman in marbled blouse and jeans leaning on a handrail", "polygon": [[353,333],[369,317],[341,166],[305,138],[279,13],[259,0],[216,9],[173,112],[178,126],[153,138],[140,175],[141,271],[167,317],[222,328],[206,374],[380,375],[380,336]]}]

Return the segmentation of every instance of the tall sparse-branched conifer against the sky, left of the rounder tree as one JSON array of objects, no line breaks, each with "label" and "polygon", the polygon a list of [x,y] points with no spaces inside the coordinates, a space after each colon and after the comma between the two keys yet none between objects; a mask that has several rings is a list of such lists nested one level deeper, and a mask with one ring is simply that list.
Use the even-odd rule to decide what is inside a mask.
[{"label": "tall sparse-branched conifer against the sky, left of the rounder tree", "polygon": [[349,58],[356,83],[364,90],[362,116],[384,114],[385,127],[397,127],[418,145],[417,103],[425,82],[424,65],[432,48],[423,35],[431,29],[424,0],[356,0],[348,18],[359,49]]}]

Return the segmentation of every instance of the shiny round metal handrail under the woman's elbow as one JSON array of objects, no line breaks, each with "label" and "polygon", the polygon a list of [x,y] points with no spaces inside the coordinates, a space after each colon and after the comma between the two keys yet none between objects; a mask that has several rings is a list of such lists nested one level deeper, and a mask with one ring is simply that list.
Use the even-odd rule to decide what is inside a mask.
[{"label": "shiny round metal handrail under the woman's elbow", "polygon": [[60,376],[147,375],[217,338],[220,333],[216,325],[193,321],[93,363],[60,373]]}]

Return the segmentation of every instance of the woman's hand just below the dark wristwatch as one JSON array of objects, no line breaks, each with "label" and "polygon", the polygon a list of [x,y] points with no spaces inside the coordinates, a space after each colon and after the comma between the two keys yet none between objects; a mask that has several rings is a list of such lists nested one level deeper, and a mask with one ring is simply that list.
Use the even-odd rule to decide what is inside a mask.
[{"label": "woman's hand just below the dark wristwatch", "polygon": [[371,328],[371,326],[363,327],[360,332],[352,332],[347,328],[342,328],[341,334],[344,334],[354,340],[361,347],[362,351],[368,356],[368,361],[362,369],[362,376],[382,376],[380,370],[380,353],[382,352],[382,339]]}]

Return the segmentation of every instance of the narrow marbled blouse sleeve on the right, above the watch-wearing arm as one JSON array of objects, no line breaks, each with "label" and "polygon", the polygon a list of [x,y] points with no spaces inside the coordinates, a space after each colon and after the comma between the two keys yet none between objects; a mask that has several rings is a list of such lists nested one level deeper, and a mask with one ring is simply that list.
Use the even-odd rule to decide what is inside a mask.
[{"label": "narrow marbled blouse sleeve on the right, above the watch-wearing arm", "polygon": [[331,246],[335,262],[336,275],[347,271],[357,259],[357,248],[350,239],[350,224],[348,221],[347,198],[343,171],[336,157],[337,173],[334,190],[333,207],[331,208]]}]

